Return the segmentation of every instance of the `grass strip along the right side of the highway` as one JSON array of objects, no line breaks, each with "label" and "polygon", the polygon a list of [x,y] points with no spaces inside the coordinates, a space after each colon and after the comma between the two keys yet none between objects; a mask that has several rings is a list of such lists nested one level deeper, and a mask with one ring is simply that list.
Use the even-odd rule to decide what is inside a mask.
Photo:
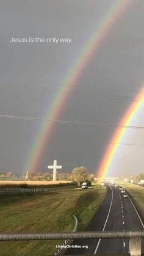
[{"label": "grass strip along the right side of the highway", "polygon": [[144,187],[126,182],[118,182],[118,185],[126,189],[144,222]]}]

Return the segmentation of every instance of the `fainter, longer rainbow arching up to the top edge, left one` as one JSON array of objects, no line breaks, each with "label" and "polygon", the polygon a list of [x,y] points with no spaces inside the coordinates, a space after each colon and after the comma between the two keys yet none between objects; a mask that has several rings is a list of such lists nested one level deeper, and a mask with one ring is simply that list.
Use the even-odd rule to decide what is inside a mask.
[{"label": "fainter, longer rainbow arching up to the top edge, left one", "polygon": [[[45,119],[57,119],[68,97],[65,97],[65,92],[68,90],[70,91],[74,87],[77,79],[81,76],[82,71],[84,71],[89,60],[92,59],[93,54],[98,51],[99,46],[103,43],[104,37],[106,37],[112,26],[115,24],[115,21],[118,20],[123,13],[123,10],[126,9],[126,6],[130,2],[131,0],[114,1],[109,12],[107,12],[107,15],[99,21],[95,30],[92,32],[92,35],[88,38],[79,55],[68,70],[67,75],[63,78],[63,81],[59,86],[59,93],[57,93],[51,106],[44,115]],[[24,166],[23,170],[24,173],[26,173],[26,170],[29,170],[29,172],[35,172],[53,129],[54,125],[52,122],[42,123],[35,136],[29,156],[27,157],[26,166]]]}]

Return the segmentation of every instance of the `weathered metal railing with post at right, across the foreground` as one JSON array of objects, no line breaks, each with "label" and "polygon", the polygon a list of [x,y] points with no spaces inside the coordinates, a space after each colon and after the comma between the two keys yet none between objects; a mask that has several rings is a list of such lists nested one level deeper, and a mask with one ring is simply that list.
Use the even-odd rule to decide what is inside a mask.
[{"label": "weathered metal railing with post at right, across the foreground", "polygon": [[141,241],[144,230],[137,231],[104,231],[104,232],[62,232],[62,233],[0,233],[0,241],[21,240],[76,240],[76,239],[130,238],[129,253],[141,255]]}]

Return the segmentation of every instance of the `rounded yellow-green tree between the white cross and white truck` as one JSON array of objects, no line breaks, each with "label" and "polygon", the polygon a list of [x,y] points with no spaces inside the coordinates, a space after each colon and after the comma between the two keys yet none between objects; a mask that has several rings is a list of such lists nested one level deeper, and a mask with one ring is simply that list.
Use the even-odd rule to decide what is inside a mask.
[{"label": "rounded yellow-green tree between the white cross and white truck", "polygon": [[87,172],[87,168],[84,166],[75,167],[72,170],[72,175],[71,175],[72,180],[77,181],[77,185],[81,186],[82,181],[84,181],[86,178],[86,175],[87,175],[86,172]]}]

